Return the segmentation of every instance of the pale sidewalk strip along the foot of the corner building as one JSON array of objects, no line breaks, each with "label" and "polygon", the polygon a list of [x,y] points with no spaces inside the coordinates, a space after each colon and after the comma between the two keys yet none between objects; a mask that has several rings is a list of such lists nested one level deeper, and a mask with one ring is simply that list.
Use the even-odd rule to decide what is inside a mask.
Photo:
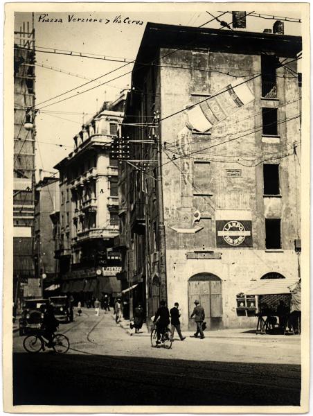
[{"label": "pale sidewalk strip along the foot of the corner building", "polygon": [[[115,320],[115,315],[111,315],[112,319]],[[129,320],[122,319],[118,324],[120,327],[125,329],[127,333],[129,333],[130,336],[134,334],[134,336],[138,337],[150,337],[150,332],[147,329],[147,325],[143,324],[143,327],[141,328],[139,333],[135,334],[134,329],[129,328]],[[193,337],[194,331],[182,331],[183,335],[186,336],[186,338]],[[282,334],[256,334],[255,329],[249,329],[249,328],[231,328],[231,329],[219,329],[217,331],[205,331],[204,332],[206,338],[237,338],[237,339],[271,339],[271,340],[289,340],[292,342],[297,342],[301,340],[301,336],[298,335],[292,335],[292,336],[284,336]],[[176,333],[177,336],[177,333]]]}]

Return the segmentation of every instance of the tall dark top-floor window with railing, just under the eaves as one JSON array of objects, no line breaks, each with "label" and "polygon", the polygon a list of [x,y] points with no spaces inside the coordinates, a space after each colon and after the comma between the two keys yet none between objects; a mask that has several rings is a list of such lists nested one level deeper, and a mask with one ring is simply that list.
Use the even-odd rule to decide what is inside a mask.
[{"label": "tall dark top-floor window with railing, just under the eaves", "polygon": [[279,61],[273,55],[261,55],[262,97],[276,98],[276,69]]}]

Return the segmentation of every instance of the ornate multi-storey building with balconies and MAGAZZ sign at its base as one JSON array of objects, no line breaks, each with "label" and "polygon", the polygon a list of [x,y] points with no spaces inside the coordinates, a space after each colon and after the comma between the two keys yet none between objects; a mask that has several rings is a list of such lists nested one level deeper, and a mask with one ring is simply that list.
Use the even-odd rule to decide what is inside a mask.
[{"label": "ornate multi-storey building with balconies and MAGAZZ sign at its base", "polygon": [[76,302],[90,302],[103,294],[120,293],[116,273],[120,254],[118,235],[118,167],[110,157],[123,112],[107,105],[82,126],[73,139],[72,153],[55,168],[60,171],[60,213],[55,257],[59,261],[61,291]]}]

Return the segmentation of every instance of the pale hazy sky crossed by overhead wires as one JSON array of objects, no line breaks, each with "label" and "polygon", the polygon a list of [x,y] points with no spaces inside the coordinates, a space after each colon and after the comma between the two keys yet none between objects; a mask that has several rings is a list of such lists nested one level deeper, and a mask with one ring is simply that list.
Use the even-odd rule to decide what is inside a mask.
[{"label": "pale hazy sky crossed by overhead wires", "polygon": [[[44,3],[42,4],[43,8]],[[127,58],[127,60],[132,60],[136,58],[145,24],[148,21],[197,27],[213,19],[208,12],[216,17],[221,14],[219,13],[220,10],[222,12],[231,10],[229,7],[232,3],[176,3],[174,6],[173,4],[141,3],[140,10],[137,7],[136,12],[129,12],[125,9],[125,3],[111,3],[110,6],[108,6],[108,3],[102,3],[101,11],[94,12],[93,7],[96,6],[89,3],[87,10],[84,12],[44,12],[44,9],[42,9],[42,12],[34,13],[36,46],[51,48],[49,51],[52,52],[36,53],[35,94],[36,107],[39,108],[35,121],[37,129],[37,169],[42,168],[46,172],[53,173],[55,171],[53,166],[73,150],[73,137],[80,131],[83,121],[90,119],[100,108],[103,101],[114,100],[121,89],[130,85],[130,74],[128,72],[132,70],[132,64],[128,64],[124,68],[100,78],[100,80],[89,83],[85,87],[75,89],[69,94],[43,103],[48,98],[53,98],[69,89],[79,87],[89,80],[98,78],[125,64],[124,62],[56,54],[53,53],[53,49],[93,54],[96,58],[100,58],[98,55],[101,55],[101,57],[105,56],[107,59],[123,60]],[[250,4],[247,3],[247,6]],[[266,3],[263,4],[266,6]],[[282,6],[279,3],[276,4],[277,9],[270,10],[271,13],[301,19],[300,14],[290,9],[289,3],[284,3]],[[269,14],[269,9],[264,8],[264,6],[262,10],[257,10],[261,7],[260,3],[255,3],[252,10],[249,10],[248,7],[246,10],[247,12]],[[45,17],[43,17],[44,14],[46,14]],[[41,18],[40,15],[42,15]],[[73,15],[74,19],[78,17],[92,18],[97,19],[97,21],[90,23],[71,19],[69,22],[69,15]],[[121,17],[122,23],[114,22],[114,19],[118,16]],[[127,17],[131,21],[142,21],[143,24],[124,24],[123,20]],[[44,19],[53,19],[53,21],[44,21]],[[62,19],[62,22],[54,21],[55,19]],[[101,23],[99,19],[102,19]],[[231,15],[226,14],[222,19],[231,22]],[[109,21],[105,23],[107,20]],[[31,25],[31,12],[15,14],[16,31],[19,30],[23,21],[30,21]],[[247,31],[262,32],[265,28],[271,28],[274,21],[273,19],[247,17]],[[301,35],[300,23],[284,21],[284,24],[286,35]],[[221,26],[214,20],[205,27],[220,28]],[[17,35],[15,35],[15,42],[19,42]],[[62,72],[41,67],[42,64],[59,69]],[[68,72],[71,74],[68,74]],[[122,76],[125,73],[128,74]],[[118,76],[121,77],[112,80],[112,78]],[[111,82],[60,103],[57,102],[107,81]],[[53,105],[51,105],[52,103]],[[60,144],[66,147],[60,147]],[[39,157],[40,154],[41,157]]]}]

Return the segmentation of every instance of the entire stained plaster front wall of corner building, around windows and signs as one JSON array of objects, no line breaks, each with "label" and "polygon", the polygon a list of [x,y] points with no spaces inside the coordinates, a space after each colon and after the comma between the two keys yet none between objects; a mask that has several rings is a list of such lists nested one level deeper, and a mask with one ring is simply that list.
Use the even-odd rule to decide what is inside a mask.
[{"label": "entire stained plaster front wall of corner building, around windows and signs", "polygon": [[[161,49],[166,55],[169,49]],[[260,55],[241,55],[215,51],[176,51],[163,58],[164,64],[218,69],[237,76],[260,73]],[[294,68],[293,68],[294,69]],[[204,94],[215,94],[235,78],[215,71],[172,69],[162,67],[161,118],[184,106],[203,100]],[[255,100],[230,115],[208,134],[186,130],[186,116],[179,112],[162,122],[163,204],[166,226],[166,261],[168,302],[179,302],[183,326],[188,326],[188,279],[197,272],[211,272],[222,279],[224,327],[253,327],[256,318],[238,317],[236,295],[244,292],[251,279],[267,272],[285,277],[298,275],[294,240],[299,229],[299,178],[295,168],[294,141],[300,141],[298,86],[296,78],[285,69],[277,71],[276,100],[261,98],[260,77],[249,81]],[[247,79],[247,78],[244,78]],[[278,108],[278,137],[262,139],[262,107]],[[221,144],[225,141],[226,143]],[[217,146],[218,145],[218,146]],[[172,150],[172,151],[170,151]],[[199,151],[200,150],[200,151]],[[190,154],[191,153],[191,154]],[[177,159],[168,163],[176,155]],[[186,155],[186,157],[179,157]],[[276,157],[276,159],[275,159]],[[195,159],[194,159],[195,158]],[[195,160],[206,160],[209,192],[195,195]],[[280,164],[280,197],[263,196],[262,164]],[[240,169],[239,177],[227,177],[226,169]],[[204,184],[205,186],[205,184]],[[203,220],[193,221],[198,209]],[[231,215],[245,218],[226,218]],[[252,248],[222,249],[216,246],[215,220],[251,220]],[[206,219],[206,223],[204,222]],[[265,252],[265,218],[281,218],[283,252]],[[204,223],[206,225],[204,225]],[[181,233],[173,228],[204,226],[195,233]],[[222,259],[186,259],[186,251],[222,252]],[[280,251],[282,251],[280,250]]]}]

